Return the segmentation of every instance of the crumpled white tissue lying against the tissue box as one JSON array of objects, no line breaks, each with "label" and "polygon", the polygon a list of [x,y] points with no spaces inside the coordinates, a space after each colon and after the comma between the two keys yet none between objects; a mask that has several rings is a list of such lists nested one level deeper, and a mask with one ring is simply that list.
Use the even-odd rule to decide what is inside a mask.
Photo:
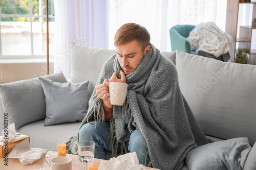
[{"label": "crumpled white tissue lying against the tissue box", "polygon": [[18,143],[9,153],[8,158],[18,158],[23,165],[32,164],[40,159],[48,150],[30,148],[29,138]]}]

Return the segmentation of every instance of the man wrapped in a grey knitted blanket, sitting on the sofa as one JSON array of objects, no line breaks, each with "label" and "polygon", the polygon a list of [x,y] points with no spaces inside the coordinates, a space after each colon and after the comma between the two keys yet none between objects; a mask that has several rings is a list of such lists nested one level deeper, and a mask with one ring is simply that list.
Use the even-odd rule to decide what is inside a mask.
[{"label": "man wrapped in a grey knitted blanket, sitting on the sofa", "polygon": [[[208,140],[180,91],[175,65],[136,23],[119,28],[115,46],[89,101],[79,141],[95,142],[95,158],[105,159],[104,149],[114,154],[129,149],[141,164],[180,169],[187,153]],[[109,82],[128,84],[123,106],[111,105]]]}]

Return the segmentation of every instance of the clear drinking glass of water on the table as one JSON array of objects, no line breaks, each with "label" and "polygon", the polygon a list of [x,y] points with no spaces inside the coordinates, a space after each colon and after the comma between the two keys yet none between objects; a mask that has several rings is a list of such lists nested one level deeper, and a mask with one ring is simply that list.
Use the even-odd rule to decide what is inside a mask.
[{"label": "clear drinking glass of water on the table", "polygon": [[77,144],[80,170],[88,170],[93,165],[95,143],[93,141],[81,141]]}]

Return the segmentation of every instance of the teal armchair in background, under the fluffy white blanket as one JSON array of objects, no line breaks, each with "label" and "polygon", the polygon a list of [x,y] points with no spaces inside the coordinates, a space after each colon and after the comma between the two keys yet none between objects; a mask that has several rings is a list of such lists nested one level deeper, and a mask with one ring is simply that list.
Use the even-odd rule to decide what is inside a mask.
[{"label": "teal armchair in background, under the fluffy white blanket", "polygon": [[196,51],[191,51],[190,43],[186,39],[196,26],[193,25],[177,25],[169,30],[170,33],[170,44],[172,45],[172,51],[180,50],[189,54],[198,54]]}]

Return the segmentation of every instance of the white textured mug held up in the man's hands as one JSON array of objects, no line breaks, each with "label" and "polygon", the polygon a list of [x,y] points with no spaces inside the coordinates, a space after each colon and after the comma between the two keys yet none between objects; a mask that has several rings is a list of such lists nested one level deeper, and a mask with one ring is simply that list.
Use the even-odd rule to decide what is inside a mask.
[{"label": "white textured mug held up in the man's hands", "polygon": [[128,84],[121,82],[110,82],[110,84],[107,85],[110,87],[110,96],[108,98],[110,103],[112,105],[122,106],[126,98]]}]

